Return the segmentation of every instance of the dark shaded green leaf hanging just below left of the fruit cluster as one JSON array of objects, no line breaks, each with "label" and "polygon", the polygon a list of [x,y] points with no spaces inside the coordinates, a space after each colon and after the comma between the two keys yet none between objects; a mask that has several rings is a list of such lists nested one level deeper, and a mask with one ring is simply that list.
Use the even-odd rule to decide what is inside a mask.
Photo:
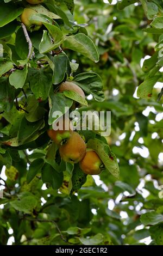
[{"label": "dark shaded green leaf hanging just below left of the fruit cluster", "polygon": [[45,163],[42,167],[42,181],[52,185],[54,190],[57,190],[62,185],[64,179],[63,173],[58,173],[51,164]]}]

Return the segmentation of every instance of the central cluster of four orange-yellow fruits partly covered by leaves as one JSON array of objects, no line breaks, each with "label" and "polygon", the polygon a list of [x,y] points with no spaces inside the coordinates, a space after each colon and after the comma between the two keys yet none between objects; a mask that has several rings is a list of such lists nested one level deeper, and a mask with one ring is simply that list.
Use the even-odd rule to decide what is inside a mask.
[{"label": "central cluster of four orange-yellow fruits partly covered by leaves", "polygon": [[[72,82],[63,82],[60,92],[71,90],[85,98],[83,90]],[[58,120],[59,122],[60,120]],[[92,149],[86,148],[84,139],[78,132],[73,131],[70,119],[62,119],[60,130],[48,130],[48,136],[59,146],[59,153],[65,162],[78,163],[85,174],[96,175],[101,173],[103,163]]]}]

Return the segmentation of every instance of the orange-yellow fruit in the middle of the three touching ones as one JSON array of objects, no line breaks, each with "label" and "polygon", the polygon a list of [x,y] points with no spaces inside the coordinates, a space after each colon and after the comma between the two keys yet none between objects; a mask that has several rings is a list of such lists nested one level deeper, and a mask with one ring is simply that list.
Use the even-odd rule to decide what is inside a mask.
[{"label": "orange-yellow fruit in the middle of the three touching ones", "polygon": [[86,153],[86,144],[77,132],[72,132],[68,141],[59,149],[62,160],[68,163],[78,163]]}]

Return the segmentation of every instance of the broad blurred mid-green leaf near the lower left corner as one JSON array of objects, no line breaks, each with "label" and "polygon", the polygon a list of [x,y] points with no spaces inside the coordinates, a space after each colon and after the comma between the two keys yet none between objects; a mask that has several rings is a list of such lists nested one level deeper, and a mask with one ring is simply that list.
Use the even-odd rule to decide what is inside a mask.
[{"label": "broad blurred mid-green leaf near the lower left corner", "polygon": [[10,202],[10,205],[17,211],[23,211],[25,214],[32,214],[36,208],[37,199],[34,196],[26,196],[21,200],[14,200]]}]

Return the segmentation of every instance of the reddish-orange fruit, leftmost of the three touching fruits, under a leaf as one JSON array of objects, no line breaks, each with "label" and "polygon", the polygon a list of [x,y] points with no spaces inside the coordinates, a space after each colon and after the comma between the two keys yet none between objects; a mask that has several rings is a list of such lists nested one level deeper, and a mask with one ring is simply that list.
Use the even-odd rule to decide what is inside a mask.
[{"label": "reddish-orange fruit, leftmost of the three touching fruits, under a leaf", "polygon": [[48,130],[48,136],[53,139],[57,145],[62,145],[69,139],[73,132],[73,127],[70,123],[70,119],[61,117],[55,124],[55,129]]}]

